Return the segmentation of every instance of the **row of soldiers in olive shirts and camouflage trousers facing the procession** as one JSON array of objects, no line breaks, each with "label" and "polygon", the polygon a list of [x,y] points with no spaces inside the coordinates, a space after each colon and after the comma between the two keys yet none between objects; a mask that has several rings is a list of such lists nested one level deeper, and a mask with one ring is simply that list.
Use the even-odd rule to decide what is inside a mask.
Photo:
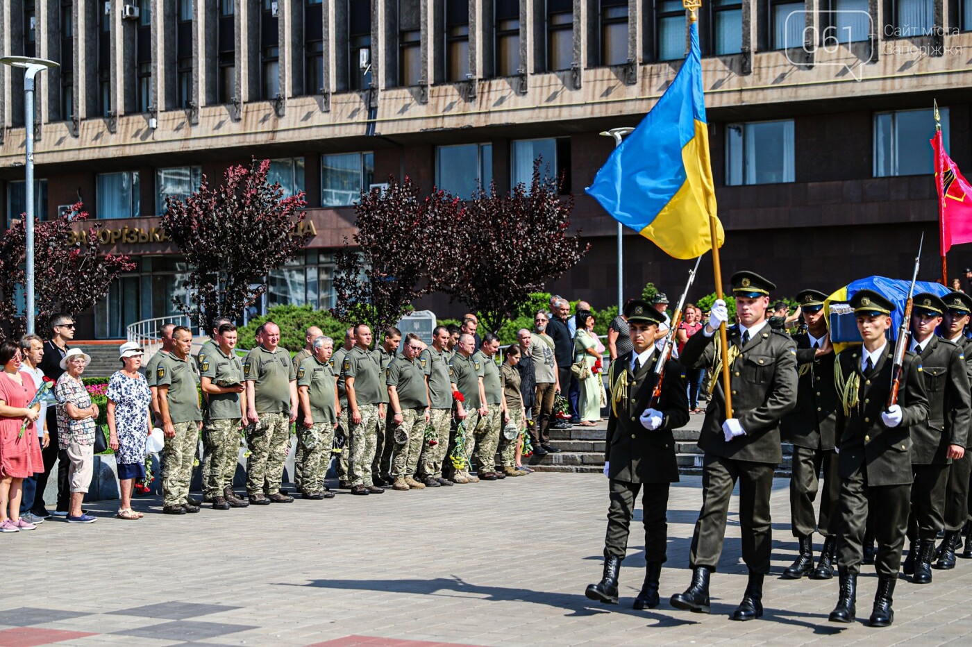
[{"label": "row of soldiers in olive shirts and camouflage trousers facing the procession", "polygon": [[[371,329],[360,323],[348,328],[335,351],[334,341],[311,326],[306,347],[291,358],[280,346],[279,326],[268,322],[241,360],[236,326],[218,320],[194,361],[189,328],[167,324],[161,335],[162,348],[147,362],[146,377],[165,436],[166,514],[197,512],[203,502],[218,510],[292,502],[281,487],[294,424],[295,486],[307,499],[333,497],[325,476],[335,450],[339,487],[351,494],[527,473],[514,460],[518,429],[525,424],[522,398],[503,394],[511,368],[496,363],[495,334],[485,335],[476,351],[472,335],[452,334],[445,326],[435,328],[431,346],[414,333],[401,345],[401,332],[391,326],[372,349]],[[201,501],[189,495],[200,430]],[[249,450],[246,498],[232,487],[241,433]]]}]

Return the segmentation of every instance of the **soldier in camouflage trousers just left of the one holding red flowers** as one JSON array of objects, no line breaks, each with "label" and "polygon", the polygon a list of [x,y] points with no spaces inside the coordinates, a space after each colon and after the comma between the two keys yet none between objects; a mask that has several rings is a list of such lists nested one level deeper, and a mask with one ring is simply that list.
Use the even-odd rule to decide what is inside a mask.
[{"label": "soldier in camouflage trousers just left of the one holding red flowers", "polygon": [[442,478],[442,461],[449,448],[449,426],[452,422],[452,387],[449,384],[449,330],[437,326],[432,333],[432,347],[422,351],[419,362],[426,372],[429,384],[430,424],[435,429],[435,444],[422,443],[419,459],[419,475],[427,488],[451,486],[452,481]]}]

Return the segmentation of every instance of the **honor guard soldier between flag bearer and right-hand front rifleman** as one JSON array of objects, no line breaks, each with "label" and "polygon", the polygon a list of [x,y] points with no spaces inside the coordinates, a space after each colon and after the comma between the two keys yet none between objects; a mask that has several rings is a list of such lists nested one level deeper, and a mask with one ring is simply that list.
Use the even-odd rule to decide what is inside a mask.
[{"label": "honor guard soldier between flag bearer and right-hand front rifleman", "polygon": [[[796,295],[807,324],[805,332],[793,335],[796,343],[796,409],[780,421],[783,442],[793,444],[790,477],[790,526],[800,543],[800,555],[783,571],[785,579],[810,575],[827,580],[834,576],[837,547],[837,494],[840,477],[834,430],[837,415],[837,390],[834,388],[834,349],[823,316],[827,295],[805,289]],[[820,515],[815,518],[814,501],[820,491],[817,476],[823,469]],[[823,535],[820,561],[814,569],[814,530]]]}]

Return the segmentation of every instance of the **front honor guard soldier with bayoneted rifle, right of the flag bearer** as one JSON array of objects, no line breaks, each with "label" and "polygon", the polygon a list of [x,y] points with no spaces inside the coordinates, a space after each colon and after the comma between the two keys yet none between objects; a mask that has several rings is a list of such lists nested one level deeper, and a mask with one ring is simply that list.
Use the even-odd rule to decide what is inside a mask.
[{"label": "front honor guard soldier with bayoneted rifle, right of the flag bearer", "polygon": [[872,627],[887,627],[901,549],[908,527],[911,500],[911,426],[928,417],[928,397],[921,363],[906,353],[901,365],[898,401],[887,406],[894,368],[893,347],[886,332],[894,304],[874,290],[858,290],[851,298],[863,346],[846,350],[834,364],[834,384],[841,398],[837,409],[841,493],[837,536],[840,596],[830,621],[851,623],[855,616],[857,573],[864,558],[864,533],[869,505],[875,507],[878,541],[874,566],[878,591]]}]

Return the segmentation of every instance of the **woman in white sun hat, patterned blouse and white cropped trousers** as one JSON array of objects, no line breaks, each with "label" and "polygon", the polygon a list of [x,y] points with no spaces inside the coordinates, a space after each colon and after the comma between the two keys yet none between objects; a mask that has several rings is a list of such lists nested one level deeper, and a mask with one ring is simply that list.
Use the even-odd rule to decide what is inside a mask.
[{"label": "woman in white sun hat, patterned blouse and white cropped trousers", "polygon": [[95,517],[85,514],[81,503],[94,473],[94,430],[98,419],[98,405],[81,381],[81,374],[91,357],[81,349],[72,348],[61,358],[65,373],[57,379],[54,396],[57,398],[57,443],[71,461],[68,481],[71,498],[66,520],[69,524],[90,524]]}]

